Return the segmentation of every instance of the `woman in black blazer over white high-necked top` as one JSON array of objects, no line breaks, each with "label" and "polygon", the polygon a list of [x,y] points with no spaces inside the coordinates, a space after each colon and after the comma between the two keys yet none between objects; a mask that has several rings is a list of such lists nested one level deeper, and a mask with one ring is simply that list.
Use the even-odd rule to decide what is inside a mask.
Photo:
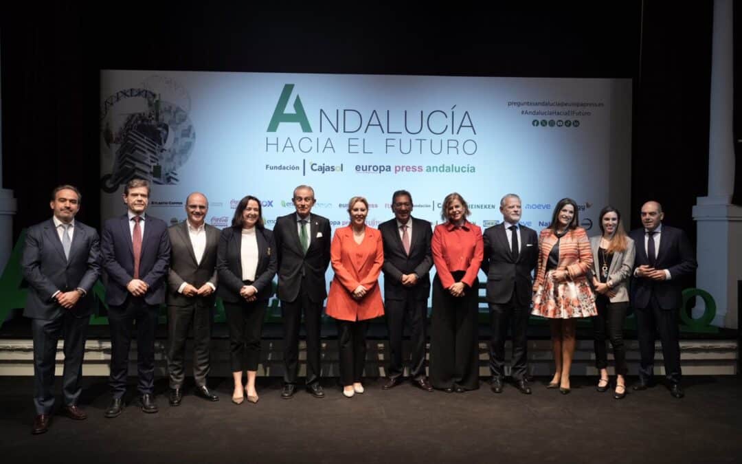
[{"label": "woman in black blazer over white high-necked top", "polygon": [[250,195],[237,204],[232,227],[222,231],[217,249],[219,295],[229,325],[229,361],[234,377],[232,402],[240,405],[242,373],[247,372],[244,392],[257,403],[255,375],[260,359],[260,336],[268,299],[273,295],[277,259],[273,232],[263,226],[260,200]]}]

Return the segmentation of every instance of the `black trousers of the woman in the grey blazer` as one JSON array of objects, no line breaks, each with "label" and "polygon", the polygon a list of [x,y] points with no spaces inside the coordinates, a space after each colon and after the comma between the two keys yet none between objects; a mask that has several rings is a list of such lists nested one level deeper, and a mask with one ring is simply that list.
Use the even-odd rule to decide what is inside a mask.
[{"label": "black trousers of the woman in the grey blazer", "polygon": [[611,340],[613,357],[616,361],[616,373],[626,376],[626,347],[623,344],[623,322],[626,321],[628,301],[611,303],[604,295],[598,295],[595,300],[598,315],[593,318],[593,338],[595,345],[595,367],[608,367],[608,350],[605,349],[605,333]]}]

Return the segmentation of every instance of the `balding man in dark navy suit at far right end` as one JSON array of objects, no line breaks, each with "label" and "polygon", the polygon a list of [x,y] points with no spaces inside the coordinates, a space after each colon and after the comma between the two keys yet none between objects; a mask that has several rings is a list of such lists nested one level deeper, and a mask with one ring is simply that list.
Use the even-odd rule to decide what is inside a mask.
[{"label": "balding man in dark navy suit at far right end", "polygon": [[654,373],[655,333],[660,333],[665,375],[670,394],[684,396],[680,385],[679,311],[683,305],[682,278],[696,267],[695,254],[685,232],[662,223],[665,215],[656,201],[642,206],[642,229],[629,237],[637,244],[631,306],[637,315],[637,337],[641,355],[639,382],[635,391],[646,390]]}]

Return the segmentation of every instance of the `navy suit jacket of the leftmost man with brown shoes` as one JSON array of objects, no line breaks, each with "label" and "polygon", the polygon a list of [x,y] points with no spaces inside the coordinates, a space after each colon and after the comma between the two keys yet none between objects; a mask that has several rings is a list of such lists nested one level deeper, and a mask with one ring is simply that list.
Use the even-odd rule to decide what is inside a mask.
[{"label": "navy suit jacket of the leftmost man with brown shoes", "polygon": [[65,258],[62,241],[53,220],[30,226],[21,258],[28,294],[23,315],[37,319],[55,319],[65,310],[52,295],[57,290],[85,290],[71,309],[74,316],[90,316],[91,289],[100,275],[100,239],[92,227],[75,221],[70,245],[70,258]]}]

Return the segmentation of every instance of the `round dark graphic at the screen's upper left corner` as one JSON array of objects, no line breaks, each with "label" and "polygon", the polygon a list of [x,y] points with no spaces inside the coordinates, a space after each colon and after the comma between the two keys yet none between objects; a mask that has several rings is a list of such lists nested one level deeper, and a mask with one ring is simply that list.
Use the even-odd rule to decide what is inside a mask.
[{"label": "round dark graphic at the screen's upper left corner", "polygon": [[185,88],[161,75],[106,98],[100,113],[100,147],[102,162],[110,163],[111,173],[101,178],[101,189],[113,193],[134,178],[177,184],[177,170],[196,143],[190,109]]}]

